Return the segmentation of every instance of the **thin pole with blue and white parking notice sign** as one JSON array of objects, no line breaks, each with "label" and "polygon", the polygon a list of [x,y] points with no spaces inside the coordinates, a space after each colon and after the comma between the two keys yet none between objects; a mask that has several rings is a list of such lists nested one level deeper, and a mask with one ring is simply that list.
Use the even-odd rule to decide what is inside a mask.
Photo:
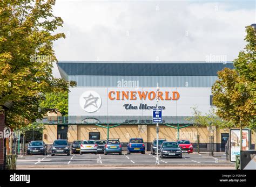
[{"label": "thin pole with blue and white parking notice sign", "polygon": [[158,123],[162,123],[162,110],[158,109],[158,101],[159,101],[158,91],[159,91],[159,87],[158,87],[158,83],[157,83],[157,107],[156,107],[156,109],[153,109],[153,123],[157,123],[157,158],[156,158],[156,165],[159,165],[159,157],[158,157],[159,126],[158,126]]}]

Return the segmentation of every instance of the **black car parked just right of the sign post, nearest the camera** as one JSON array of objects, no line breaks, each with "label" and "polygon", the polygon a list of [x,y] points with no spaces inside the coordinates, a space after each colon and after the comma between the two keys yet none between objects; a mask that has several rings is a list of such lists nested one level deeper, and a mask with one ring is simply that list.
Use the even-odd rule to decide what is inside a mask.
[{"label": "black car parked just right of the sign post, nearest the camera", "polygon": [[178,145],[178,142],[165,141],[160,147],[160,158],[164,157],[178,157],[182,158],[182,152]]}]

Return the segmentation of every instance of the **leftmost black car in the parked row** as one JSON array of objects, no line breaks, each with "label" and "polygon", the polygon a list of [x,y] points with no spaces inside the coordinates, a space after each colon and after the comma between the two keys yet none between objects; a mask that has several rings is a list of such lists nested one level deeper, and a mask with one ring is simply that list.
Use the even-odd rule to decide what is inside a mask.
[{"label": "leftmost black car in the parked row", "polygon": [[26,154],[47,155],[47,145],[44,143],[44,141],[31,141],[28,149],[26,150]]}]

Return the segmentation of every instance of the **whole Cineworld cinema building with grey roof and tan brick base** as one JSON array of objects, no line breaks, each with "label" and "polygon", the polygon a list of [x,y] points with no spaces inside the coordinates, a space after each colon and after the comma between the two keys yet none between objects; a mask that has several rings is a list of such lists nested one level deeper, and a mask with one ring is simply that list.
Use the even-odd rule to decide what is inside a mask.
[{"label": "whole Cineworld cinema building with grey roof and tan brick base", "polygon": [[[119,138],[125,150],[130,138],[143,138],[147,150],[156,138],[152,109],[156,108],[159,83],[159,109],[163,123],[159,138],[188,139],[196,150],[207,151],[209,136],[214,149],[224,151],[228,130],[193,126],[192,107],[208,113],[212,106],[211,87],[217,72],[233,68],[232,63],[206,62],[75,62],[60,61],[58,69],[70,88],[69,115],[49,116],[44,122],[43,140]],[[197,136],[199,135],[199,136]]]}]

